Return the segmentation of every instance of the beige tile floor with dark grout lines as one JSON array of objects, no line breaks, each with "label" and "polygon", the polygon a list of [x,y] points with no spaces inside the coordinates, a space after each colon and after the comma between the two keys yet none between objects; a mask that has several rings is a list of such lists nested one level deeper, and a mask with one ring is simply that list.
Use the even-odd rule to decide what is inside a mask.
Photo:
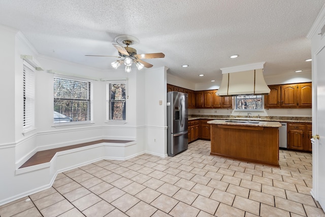
[{"label": "beige tile floor with dark grout lines", "polygon": [[280,150],[275,168],[209,150],[198,140],[175,157],[144,154],[59,173],[50,189],[0,206],[0,216],[325,216],[310,196],[311,154]]}]

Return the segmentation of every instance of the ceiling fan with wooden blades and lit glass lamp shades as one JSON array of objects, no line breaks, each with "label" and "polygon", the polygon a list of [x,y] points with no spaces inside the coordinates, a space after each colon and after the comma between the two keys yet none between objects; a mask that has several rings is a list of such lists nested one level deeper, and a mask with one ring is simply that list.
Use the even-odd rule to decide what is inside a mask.
[{"label": "ceiling fan with wooden blades and lit glass lamp shades", "polygon": [[[149,54],[137,54],[137,50],[129,47],[130,45],[135,45],[139,43],[139,40],[131,35],[119,35],[115,38],[115,42],[118,44],[113,44],[117,49],[119,56],[106,56],[106,57],[116,57],[123,58],[121,60],[116,60],[111,63],[112,67],[117,69],[120,65],[124,63],[125,72],[131,73],[131,65],[134,62],[139,70],[143,67],[150,68],[153,65],[143,61],[142,59],[152,59],[152,58],[164,58],[163,53],[149,53]],[[126,47],[124,47],[126,46]],[[102,56],[102,55],[85,55],[85,56]]]}]

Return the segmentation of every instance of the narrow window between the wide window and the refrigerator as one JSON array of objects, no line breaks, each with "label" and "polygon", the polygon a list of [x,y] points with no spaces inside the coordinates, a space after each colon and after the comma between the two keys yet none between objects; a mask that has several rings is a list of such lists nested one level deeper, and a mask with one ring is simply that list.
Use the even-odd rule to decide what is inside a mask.
[{"label": "narrow window between the wide window and the refrigerator", "polygon": [[106,110],[108,121],[125,121],[125,82],[106,84]]}]

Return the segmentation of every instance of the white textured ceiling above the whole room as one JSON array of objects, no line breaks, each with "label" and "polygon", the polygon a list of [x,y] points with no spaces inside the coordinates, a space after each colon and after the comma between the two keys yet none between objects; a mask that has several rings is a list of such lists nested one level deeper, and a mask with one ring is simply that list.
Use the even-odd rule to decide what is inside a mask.
[{"label": "white textured ceiling above the whole room", "polygon": [[[140,40],[133,46],[138,54],[166,55],[148,59],[154,67],[165,65],[170,74],[194,83],[220,84],[220,68],[262,61],[265,76],[311,71],[311,63],[304,61],[311,58],[306,35],[324,4],[325,0],[1,0],[0,24],[19,29],[42,55],[108,70],[115,58],[84,55],[116,56],[114,38],[133,35]],[[233,54],[239,57],[230,59]]]}]

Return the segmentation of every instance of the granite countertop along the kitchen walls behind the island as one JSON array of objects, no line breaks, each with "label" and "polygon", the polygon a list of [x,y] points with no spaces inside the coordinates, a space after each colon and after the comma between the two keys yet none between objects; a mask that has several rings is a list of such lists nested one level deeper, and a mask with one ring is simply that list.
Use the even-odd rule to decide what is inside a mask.
[{"label": "granite countertop along the kitchen walls behind the island", "polygon": [[299,123],[311,123],[311,117],[282,117],[282,116],[253,116],[252,118],[246,118],[243,116],[226,116],[226,115],[195,115],[188,116],[188,120],[200,120],[200,119],[212,119],[212,120],[252,120],[260,122],[299,122]]}]

